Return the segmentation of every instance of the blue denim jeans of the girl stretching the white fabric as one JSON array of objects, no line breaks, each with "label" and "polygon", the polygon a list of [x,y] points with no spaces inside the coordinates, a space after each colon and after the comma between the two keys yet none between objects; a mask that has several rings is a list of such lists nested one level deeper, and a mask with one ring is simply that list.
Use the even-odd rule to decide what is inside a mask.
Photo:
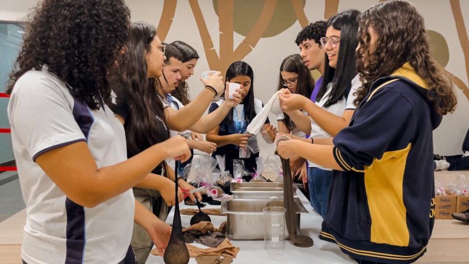
[{"label": "blue denim jeans of the girl stretching the white fabric", "polygon": [[332,171],[308,167],[308,187],[311,206],[322,218],[327,214],[331,182]]}]

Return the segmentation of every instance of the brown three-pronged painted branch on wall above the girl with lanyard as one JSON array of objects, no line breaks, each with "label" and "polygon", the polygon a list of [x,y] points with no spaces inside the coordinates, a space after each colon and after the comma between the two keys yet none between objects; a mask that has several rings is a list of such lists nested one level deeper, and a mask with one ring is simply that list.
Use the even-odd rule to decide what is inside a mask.
[{"label": "brown three-pronged painted branch on wall above the girl with lanyard", "polygon": [[232,62],[242,60],[256,47],[256,44],[259,42],[272,19],[277,6],[277,0],[266,0],[264,2],[257,22],[236,48],[234,48],[233,41],[235,1],[223,0],[223,4],[218,4],[217,13],[220,31],[219,55],[214,48],[212,37],[207,29],[207,24],[198,0],[189,0],[189,4],[191,5],[200,37],[202,38],[205,56],[207,57],[210,69],[220,70],[224,73]]}]

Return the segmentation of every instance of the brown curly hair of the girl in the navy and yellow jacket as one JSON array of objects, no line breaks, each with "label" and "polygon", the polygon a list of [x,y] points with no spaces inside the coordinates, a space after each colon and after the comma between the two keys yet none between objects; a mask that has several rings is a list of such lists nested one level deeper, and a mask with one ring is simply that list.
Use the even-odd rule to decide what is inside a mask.
[{"label": "brown curly hair of the girl in the navy and yellow jacket", "polygon": [[[378,35],[373,53],[368,27]],[[357,103],[363,101],[374,81],[408,62],[427,83],[427,98],[434,110],[443,115],[454,111],[456,96],[452,84],[430,56],[424,19],[411,3],[390,0],[372,6],[362,14],[358,36],[357,69],[363,86],[358,90]]]}]

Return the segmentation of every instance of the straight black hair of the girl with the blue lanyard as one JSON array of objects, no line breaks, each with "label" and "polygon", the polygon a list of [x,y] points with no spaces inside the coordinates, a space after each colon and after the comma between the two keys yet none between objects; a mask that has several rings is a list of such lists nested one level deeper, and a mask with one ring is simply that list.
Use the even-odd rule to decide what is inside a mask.
[{"label": "straight black hair of the girl with the blue lanyard", "polygon": [[[248,93],[244,97],[243,107],[244,107],[244,118],[246,122],[249,124],[251,121],[256,117],[256,109],[254,106],[254,72],[253,68],[249,66],[249,64],[245,62],[234,62],[232,63],[228,69],[226,70],[226,80],[230,82],[231,79],[235,78],[236,76],[245,75],[251,78],[251,88],[249,89]],[[225,117],[225,121],[228,123],[233,123],[233,111],[235,109],[232,108],[228,115]]]}]

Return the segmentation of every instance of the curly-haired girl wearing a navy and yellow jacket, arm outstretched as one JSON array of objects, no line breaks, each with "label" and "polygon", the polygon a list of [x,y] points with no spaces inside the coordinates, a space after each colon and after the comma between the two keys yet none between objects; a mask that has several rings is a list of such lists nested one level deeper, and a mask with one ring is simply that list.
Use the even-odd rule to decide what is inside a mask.
[{"label": "curly-haired girl wearing a navy and yellow jacket, arm outstretched", "polygon": [[350,126],[329,145],[290,140],[277,151],[334,169],[320,239],[360,264],[412,263],[426,252],[434,224],[433,130],[456,96],[411,3],[372,6],[358,36],[366,82]]}]

